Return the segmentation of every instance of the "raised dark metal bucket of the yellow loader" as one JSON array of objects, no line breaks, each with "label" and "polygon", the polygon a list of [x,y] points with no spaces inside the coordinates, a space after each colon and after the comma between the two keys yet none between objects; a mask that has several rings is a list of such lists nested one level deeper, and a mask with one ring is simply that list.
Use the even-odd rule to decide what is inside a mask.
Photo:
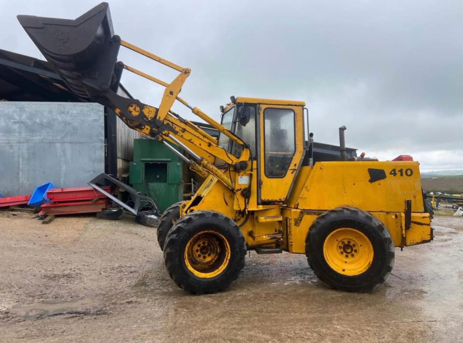
[{"label": "raised dark metal bucket of the yellow loader", "polygon": [[[120,38],[106,2],[75,20],[18,15],[32,41],[56,69],[69,89],[82,98],[117,90],[114,72]],[[114,89],[116,88],[116,89]]]}]

